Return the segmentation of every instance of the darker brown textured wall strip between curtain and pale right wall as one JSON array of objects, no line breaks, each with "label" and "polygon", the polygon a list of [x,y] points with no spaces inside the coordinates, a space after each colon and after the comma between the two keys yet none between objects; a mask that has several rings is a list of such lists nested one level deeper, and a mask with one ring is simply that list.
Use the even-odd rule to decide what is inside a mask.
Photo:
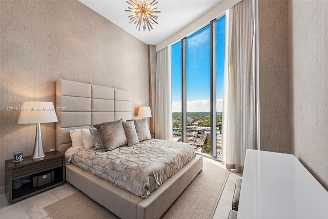
[{"label": "darker brown textured wall strip between curtain and pale right wall", "polygon": [[261,150],[291,153],[288,82],[288,1],[260,0]]}]

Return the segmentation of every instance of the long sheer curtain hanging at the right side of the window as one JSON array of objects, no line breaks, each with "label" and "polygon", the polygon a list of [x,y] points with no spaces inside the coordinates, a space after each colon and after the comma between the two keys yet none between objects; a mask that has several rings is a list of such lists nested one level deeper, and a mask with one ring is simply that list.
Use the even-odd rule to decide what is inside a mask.
[{"label": "long sheer curtain hanging at the right side of the window", "polygon": [[223,99],[223,162],[241,172],[246,149],[257,149],[256,5],[243,0],[228,12]]}]

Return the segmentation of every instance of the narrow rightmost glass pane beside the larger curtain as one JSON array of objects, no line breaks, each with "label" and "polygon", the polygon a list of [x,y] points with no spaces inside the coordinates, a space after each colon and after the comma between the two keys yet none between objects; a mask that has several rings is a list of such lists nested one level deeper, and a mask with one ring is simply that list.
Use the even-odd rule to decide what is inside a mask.
[{"label": "narrow rightmost glass pane beside the larger curtain", "polygon": [[223,77],[224,47],[226,42],[226,16],[216,21],[216,156],[222,158],[222,109],[223,109]]}]

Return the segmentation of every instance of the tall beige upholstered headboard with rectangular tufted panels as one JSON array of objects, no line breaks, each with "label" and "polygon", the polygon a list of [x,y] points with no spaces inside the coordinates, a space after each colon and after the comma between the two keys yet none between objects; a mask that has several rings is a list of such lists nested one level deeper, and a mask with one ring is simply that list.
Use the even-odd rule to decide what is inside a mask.
[{"label": "tall beige upholstered headboard with rectangular tufted panels", "polygon": [[56,85],[56,150],[72,146],[70,130],[131,119],[131,92],[58,79]]}]

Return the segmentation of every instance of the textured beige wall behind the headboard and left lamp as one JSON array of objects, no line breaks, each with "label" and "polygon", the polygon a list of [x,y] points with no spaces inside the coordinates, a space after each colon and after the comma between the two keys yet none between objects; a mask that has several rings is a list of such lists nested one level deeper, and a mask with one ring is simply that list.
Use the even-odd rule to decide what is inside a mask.
[{"label": "textured beige wall behind the headboard and left lamp", "polygon": [[[133,116],[149,106],[148,46],[80,2],[0,1],[0,21],[0,107],[55,104],[58,78],[131,90]],[[18,116],[0,111],[0,187],[5,160],[33,151],[36,126],[17,124]],[[41,126],[48,152],[55,123]]]}]

